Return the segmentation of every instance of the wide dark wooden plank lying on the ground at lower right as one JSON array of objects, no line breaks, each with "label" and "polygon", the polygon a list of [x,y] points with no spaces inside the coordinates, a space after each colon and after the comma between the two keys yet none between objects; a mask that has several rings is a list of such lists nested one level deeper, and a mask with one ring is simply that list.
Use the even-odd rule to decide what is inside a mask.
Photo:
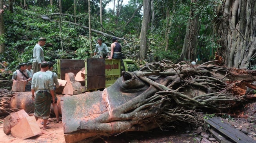
[{"label": "wide dark wooden plank lying on the ground at lower right", "polygon": [[232,139],[234,143],[255,143],[254,139],[245,135],[240,130],[231,127],[229,124],[221,122],[220,118],[218,117],[205,119],[205,122],[207,122],[209,125],[214,127],[225,136]]}]

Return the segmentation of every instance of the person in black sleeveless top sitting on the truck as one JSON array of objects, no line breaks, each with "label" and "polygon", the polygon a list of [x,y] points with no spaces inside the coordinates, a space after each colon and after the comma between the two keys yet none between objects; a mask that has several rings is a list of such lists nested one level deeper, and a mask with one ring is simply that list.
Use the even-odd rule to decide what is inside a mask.
[{"label": "person in black sleeveless top sitting on the truck", "polygon": [[111,44],[111,54],[108,59],[122,59],[121,45],[117,43],[117,38],[113,37],[113,43]]}]

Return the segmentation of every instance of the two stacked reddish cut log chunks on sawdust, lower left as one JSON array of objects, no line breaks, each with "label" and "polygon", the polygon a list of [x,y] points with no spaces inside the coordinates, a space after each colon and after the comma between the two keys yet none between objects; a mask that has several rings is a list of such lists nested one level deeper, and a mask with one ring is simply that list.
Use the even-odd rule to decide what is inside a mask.
[{"label": "two stacked reddish cut log chunks on sawdust, lower left", "polygon": [[29,116],[24,110],[20,110],[4,118],[4,133],[26,139],[41,134],[42,131],[34,116]]}]

